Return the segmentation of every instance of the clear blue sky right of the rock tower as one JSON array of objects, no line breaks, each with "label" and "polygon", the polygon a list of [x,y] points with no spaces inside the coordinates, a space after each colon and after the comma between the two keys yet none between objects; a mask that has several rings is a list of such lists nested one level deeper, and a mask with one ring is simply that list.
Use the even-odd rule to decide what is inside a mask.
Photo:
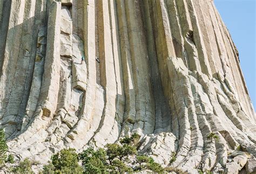
[{"label": "clear blue sky right of the rock tower", "polygon": [[214,0],[237,46],[242,73],[256,109],[255,6],[256,0]]}]

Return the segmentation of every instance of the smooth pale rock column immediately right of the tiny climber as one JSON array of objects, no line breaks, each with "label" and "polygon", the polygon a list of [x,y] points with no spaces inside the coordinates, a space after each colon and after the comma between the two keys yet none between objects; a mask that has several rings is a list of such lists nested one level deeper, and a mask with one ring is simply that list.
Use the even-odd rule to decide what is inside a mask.
[{"label": "smooth pale rock column immediately right of the tiny climber", "polygon": [[90,140],[90,137],[84,136],[84,132],[89,131],[91,127],[96,98],[95,1],[93,0],[83,1],[83,40],[85,66],[87,69],[86,89],[83,97],[82,113],[79,115],[77,125],[72,129],[72,133],[77,134],[74,143],[77,142],[79,148],[82,148]]}]

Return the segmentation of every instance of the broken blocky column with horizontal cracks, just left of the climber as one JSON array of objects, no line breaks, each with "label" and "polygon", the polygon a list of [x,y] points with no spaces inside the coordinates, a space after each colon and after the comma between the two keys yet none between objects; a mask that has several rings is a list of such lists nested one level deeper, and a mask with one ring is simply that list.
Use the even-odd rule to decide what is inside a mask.
[{"label": "broken blocky column with horizontal cracks, just left of the climber", "polygon": [[[58,142],[59,146],[68,146],[71,142],[71,137],[65,137],[66,134],[73,128],[78,120],[76,113],[79,110],[79,97],[76,98],[72,93],[73,77],[73,60],[72,60],[72,17],[70,12],[71,3],[62,2],[62,9],[60,13],[60,70],[59,70],[59,93],[58,93],[58,105],[56,110],[55,120],[51,122],[51,125],[58,125],[55,128],[54,135],[51,138],[53,143]],[[74,60],[75,61],[75,60]],[[73,73],[75,74],[75,73]],[[75,74],[76,76],[76,74]],[[79,85],[79,81],[76,83]],[[82,86],[82,85],[81,85]],[[80,87],[81,88],[81,87]],[[82,93],[82,92],[81,92]],[[76,102],[73,103],[72,97],[76,98]],[[78,103],[78,104],[77,104]],[[52,129],[52,128],[51,128]],[[57,141],[56,141],[57,139]],[[59,141],[60,140],[60,141]]]}]

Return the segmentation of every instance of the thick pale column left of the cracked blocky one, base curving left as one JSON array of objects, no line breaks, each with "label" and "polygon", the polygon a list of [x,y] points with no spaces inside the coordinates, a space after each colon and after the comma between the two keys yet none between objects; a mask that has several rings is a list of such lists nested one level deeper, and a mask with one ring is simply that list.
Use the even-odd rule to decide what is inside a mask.
[{"label": "thick pale column left of the cracked blocky one, base curving left", "polygon": [[[39,1],[38,1],[39,3]],[[45,3],[43,2],[41,5],[40,3],[37,4],[41,6],[41,8],[46,7]],[[61,4],[60,2],[52,2],[48,4],[48,27],[47,27],[47,39],[45,38],[46,35],[46,28],[42,27],[41,31],[39,32],[39,37],[36,38],[38,40],[38,50],[36,56],[36,65],[32,78],[33,85],[41,84],[40,94],[38,98],[37,108],[33,115],[33,118],[30,118],[31,121],[28,125],[28,128],[25,132],[19,135],[19,139],[15,142],[9,142],[9,147],[15,151],[22,151],[20,154],[21,157],[28,157],[30,154],[37,154],[44,150],[45,153],[49,155],[49,151],[45,150],[46,145],[42,142],[45,141],[48,133],[46,132],[46,127],[49,125],[49,122],[53,118],[57,108],[57,101],[58,101],[58,92],[59,92],[59,66],[60,66],[60,47],[59,47],[59,39],[60,39],[60,10]],[[44,9],[44,8],[43,8]],[[44,13],[45,14],[45,13]],[[41,16],[42,15],[42,16]],[[39,14],[39,18],[44,18],[43,14]],[[46,42],[45,42],[46,40]],[[46,44],[46,50],[45,50]],[[37,46],[37,45],[36,45]],[[45,58],[44,53],[46,52]],[[44,63],[44,65],[43,65]],[[41,82],[42,71],[40,68],[44,66],[44,73],[43,79]],[[38,69],[39,68],[39,69]],[[41,77],[40,77],[41,76]],[[37,80],[39,82],[37,82]],[[35,88],[35,91],[31,93],[29,101],[32,98],[37,99],[38,89]],[[29,105],[27,105],[29,107]],[[27,107],[27,108],[28,108]],[[35,108],[31,108],[31,112]],[[28,113],[31,116],[32,113]],[[24,122],[25,123],[25,122]],[[25,124],[24,124],[25,126]],[[37,144],[35,146],[35,143]],[[22,150],[21,150],[22,149]],[[40,156],[40,155],[38,155]],[[42,153],[41,157],[45,154]],[[39,157],[39,158],[41,158]]]}]

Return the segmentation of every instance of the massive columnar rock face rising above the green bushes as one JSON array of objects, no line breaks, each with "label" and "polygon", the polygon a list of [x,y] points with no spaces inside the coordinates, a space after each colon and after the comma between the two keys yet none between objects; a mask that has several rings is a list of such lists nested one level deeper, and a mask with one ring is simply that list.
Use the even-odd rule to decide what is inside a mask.
[{"label": "massive columnar rock face rising above the green bushes", "polygon": [[188,172],[238,172],[256,156],[238,52],[212,0],[2,0],[0,38],[0,123],[17,159],[45,164],[134,132],[142,153],[166,166],[175,152],[171,166]]}]

